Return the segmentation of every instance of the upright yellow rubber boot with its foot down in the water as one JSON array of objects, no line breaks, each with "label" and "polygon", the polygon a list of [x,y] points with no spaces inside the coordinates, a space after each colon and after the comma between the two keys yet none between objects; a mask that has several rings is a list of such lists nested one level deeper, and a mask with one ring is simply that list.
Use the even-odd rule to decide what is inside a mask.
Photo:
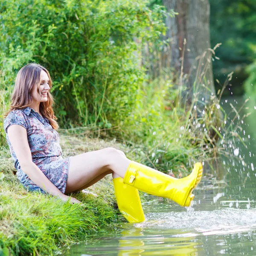
[{"label": "upright yellow rubber boot with its foot down in the water", "polygon": [[123,183],[121,177],[114,178],[114,189],[119,211],[131,223],[145,221],[138,189]]}]

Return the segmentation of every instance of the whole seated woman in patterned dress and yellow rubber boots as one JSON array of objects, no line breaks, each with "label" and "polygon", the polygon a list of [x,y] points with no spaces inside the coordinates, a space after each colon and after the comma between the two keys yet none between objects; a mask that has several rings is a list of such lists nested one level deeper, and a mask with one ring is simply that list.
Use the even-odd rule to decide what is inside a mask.
[{"label": "whole seated woman in patterned dress and yellow rubber boots", "polygon": [[176,179],[129,160],[115,148],[63,159],[51,87],[47,69],[34,63],[22,67],[5,115],[6,139],[23,186],[29,191],[47,192],[64,201],[70,198],[72,203],[81,203],[68,194],[112,174],[119,210],[130,222],[145,220],[137,189],[170,198],[181,206],[190,205],[192,190],[202,177],[201,163],[195,164],[189,176]]}]

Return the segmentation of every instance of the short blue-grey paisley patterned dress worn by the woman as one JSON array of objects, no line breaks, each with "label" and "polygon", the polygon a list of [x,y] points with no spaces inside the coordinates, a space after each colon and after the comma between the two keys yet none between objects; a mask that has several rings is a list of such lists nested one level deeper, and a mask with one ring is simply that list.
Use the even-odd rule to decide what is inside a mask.
[{"label": "short blue-grey paisley patterned dress worn by the woman", "polygon": [[59,134],[49,124],[49,120],[46,117],[42,117],[30,107],[11,111],[8,116],[6,116],[6,119],[4,119],[6,140],[15,162],[14,166],[17,170],[17,178],[29,191],[46,193],[20,168],[20,163],[17,160],[7,133],[7,129],[10,125],[21,125],[26,128],[32,161],[39,167],[44,175],[64,193],[71,157],[62,157]]}]

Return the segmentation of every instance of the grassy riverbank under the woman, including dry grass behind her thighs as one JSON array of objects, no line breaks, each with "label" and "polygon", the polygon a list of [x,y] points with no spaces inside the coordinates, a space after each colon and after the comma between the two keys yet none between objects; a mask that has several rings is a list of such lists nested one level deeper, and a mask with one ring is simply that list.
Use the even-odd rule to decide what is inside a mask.
[{"label": "grassy riverbank under the woman, including dry grass behind her thighs", "polygon": [[[60,144],[64,158],[111,146],[138,160],[130,148],[115,140],[60,133]],[[5,175],[0,181],[0,255],[56,254],[91,231],[125,221],[116,210],[111,175],[88,188],[99,195],[97,198],[82,192],[73,194],[82,201],[80,206],[49,195],[26,192],[13,175],[14,170],[9,148],[4,148],[0,156],[0,172]]]}]

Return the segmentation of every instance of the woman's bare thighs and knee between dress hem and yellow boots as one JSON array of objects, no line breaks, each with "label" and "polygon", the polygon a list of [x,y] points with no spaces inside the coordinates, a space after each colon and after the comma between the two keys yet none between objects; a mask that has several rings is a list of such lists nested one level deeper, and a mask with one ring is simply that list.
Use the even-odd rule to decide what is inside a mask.
[{"label": "woman's bare thighs and knee between dress hem and yellow boots", "polygon": [[89,187],[110,173],[123,178],[130,163],[131,160],[115,148],[71,157],[65,194]]}]

